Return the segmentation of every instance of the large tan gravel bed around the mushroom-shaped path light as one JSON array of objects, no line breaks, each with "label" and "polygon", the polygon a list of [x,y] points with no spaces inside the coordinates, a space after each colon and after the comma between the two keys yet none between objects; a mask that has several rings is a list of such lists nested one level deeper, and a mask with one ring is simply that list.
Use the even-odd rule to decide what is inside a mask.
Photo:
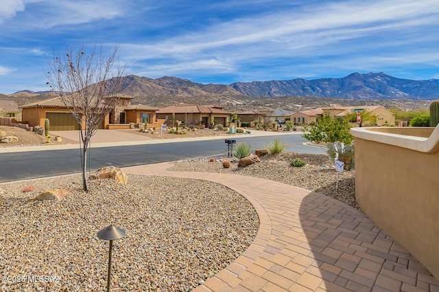
[{"label": "large tan gravel bed around the mushroom-shaped path light", "polygon": [[[34,191],[23,193],[32,186]],[[45,189],[60,201],[27,202]],[[127,185],[79,175],[0,185],[0,291],[104,291],[108,241],[97,231],[126,230],[114,241],[112,291],[190,291],[252,243],[259,219],[235,191],[205,181],[130,175]],[[49,282],[12,282],[52,276]]]}]

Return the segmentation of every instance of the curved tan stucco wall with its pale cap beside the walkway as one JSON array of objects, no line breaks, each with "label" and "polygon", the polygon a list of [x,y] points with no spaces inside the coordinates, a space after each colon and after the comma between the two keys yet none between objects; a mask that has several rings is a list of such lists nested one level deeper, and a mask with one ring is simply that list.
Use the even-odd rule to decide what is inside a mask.
[{"label": "curved tan stucco wall with its pale cap beside the walkway", "polygon": [[[399,128],[383,129],[397,132]],[[438,147],[421,137],[361,128],[351,131],[355,137],[355,196],[359,206],[439,278]],[[429,139],[439,144],[439,128]]]}]

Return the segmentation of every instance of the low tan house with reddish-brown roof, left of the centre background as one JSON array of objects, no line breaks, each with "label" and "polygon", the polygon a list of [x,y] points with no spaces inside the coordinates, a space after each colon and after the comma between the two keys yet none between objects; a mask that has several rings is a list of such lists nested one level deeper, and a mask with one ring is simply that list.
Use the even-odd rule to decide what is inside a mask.
[{"label": "low tan house with reddish-brown roof, left of the centre background", "polygon": [[222,124],[226,127],[230,122],[230,111],[224,111],[224,107],[219,105],[180,104],[162,107],[156,111],[158,119],[165,119],[168,122],[171,122],[173,113],[176,121],[184,122],[188,126]]}]

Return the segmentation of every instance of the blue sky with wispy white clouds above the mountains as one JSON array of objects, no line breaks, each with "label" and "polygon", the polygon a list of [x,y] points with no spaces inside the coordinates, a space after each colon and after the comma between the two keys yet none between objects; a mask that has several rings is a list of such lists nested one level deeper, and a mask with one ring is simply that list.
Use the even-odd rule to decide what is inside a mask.
[{"label": "blue sky with wispy white clouds above the mountains", "polygon": [[0,93],[49,90],[45,54],[119,46],[126,75],[230,84],[439,78],[438,0],[1,0]]}]

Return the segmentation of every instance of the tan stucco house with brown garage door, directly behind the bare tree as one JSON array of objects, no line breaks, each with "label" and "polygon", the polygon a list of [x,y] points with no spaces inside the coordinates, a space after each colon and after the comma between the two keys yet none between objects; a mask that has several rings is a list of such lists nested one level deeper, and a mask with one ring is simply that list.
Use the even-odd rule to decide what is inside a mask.
[{"label": "tan stucco house with brown garage door, directly behind the bare tree", "polygon": [[[145,105],[131,105],[132,96],[118,95],[119,105],[107,114],[98,129],[128,129],[139,124],[147,117],[150,127],[159,127],[156,120],[156,108]],[[78,121],[69,112],[61,98],[56,96],[36,103],[21,106],[23,118],[29,126],[43,126],[45,119],[50,120],[52,131],[79,130]]]}]

